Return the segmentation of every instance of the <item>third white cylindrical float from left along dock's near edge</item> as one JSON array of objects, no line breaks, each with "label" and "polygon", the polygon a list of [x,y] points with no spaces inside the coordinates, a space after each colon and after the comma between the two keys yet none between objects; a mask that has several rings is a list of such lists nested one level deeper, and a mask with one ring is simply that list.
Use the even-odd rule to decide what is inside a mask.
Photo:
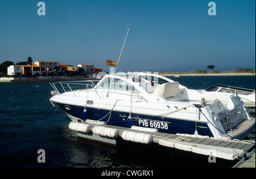
[{"label": "third white cylindrical float from left along dock's near edge", "polygon": [[151,134],[137,133],[134,131],[123,131],[122,138],[131,142],[150,144],[153,142]]}]

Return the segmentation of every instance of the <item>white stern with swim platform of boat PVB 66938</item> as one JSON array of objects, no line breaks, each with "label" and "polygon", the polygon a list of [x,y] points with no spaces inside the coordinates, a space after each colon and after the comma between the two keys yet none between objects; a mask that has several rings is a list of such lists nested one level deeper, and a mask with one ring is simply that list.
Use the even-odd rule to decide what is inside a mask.
[{"label": "white stern with swim platform of boat PVB 66938", "polygon": [[250,116],[239,96],[230,96],[227,108],[221,101],[215,101],[201,110],[213,136],[217,138],[241,139],[255,127],[255,118]]}]

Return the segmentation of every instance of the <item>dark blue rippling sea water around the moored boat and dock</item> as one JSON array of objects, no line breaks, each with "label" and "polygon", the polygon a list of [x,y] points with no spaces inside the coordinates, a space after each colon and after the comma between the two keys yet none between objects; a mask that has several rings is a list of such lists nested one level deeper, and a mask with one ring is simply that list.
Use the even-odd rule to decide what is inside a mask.
[{"label": "dark blue rippling sea water around the moored boat and dock", "polygon": [[[255,89],[255,76],[170,78],[194,89],[211,84]],[[49,82],[0,83],[0,167],[205,167],[209,164],[207,157],[155,144],[121,141],[114,147],[78,140],[76,133],[68,129],[69,118],[59,110],[55,112],[49,102],[50,90]],[[248,138],[255,140],[255,130]],[[39,149],[46,151],[46,163],[38,163]],[[214,167],[227,167],[227,163],[232,165],[230,161],[221,161]]]}]

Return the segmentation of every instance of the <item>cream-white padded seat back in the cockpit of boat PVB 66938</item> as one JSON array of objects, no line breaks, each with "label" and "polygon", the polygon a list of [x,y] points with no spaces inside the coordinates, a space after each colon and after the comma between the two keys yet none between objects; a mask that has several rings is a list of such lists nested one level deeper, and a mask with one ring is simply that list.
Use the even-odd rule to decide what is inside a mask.
[{"label": "cream-white padded seat back in the cockpit of boat PVB 66938", "polygon": [[151,93],[152,96],[174,97],[179,91],[179,82],[164,83]]}]

